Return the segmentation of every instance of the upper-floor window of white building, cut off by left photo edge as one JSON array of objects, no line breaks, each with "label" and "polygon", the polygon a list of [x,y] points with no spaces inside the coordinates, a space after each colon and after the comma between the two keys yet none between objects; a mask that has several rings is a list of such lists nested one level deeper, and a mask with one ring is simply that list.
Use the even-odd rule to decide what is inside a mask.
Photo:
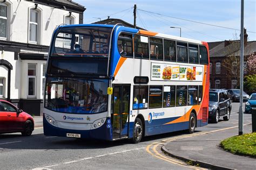
[{"label": "upper-floor window of white building, cut off by left photo edge", "polygon": [[0,5],[0,38],[7,36],[7,6]]}]

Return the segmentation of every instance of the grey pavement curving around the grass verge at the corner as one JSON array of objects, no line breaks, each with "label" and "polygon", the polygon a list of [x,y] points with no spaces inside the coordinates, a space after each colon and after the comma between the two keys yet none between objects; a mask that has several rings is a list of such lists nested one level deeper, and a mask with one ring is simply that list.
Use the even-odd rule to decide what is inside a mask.
[{"label": "grey pavement curving around the grass verge at the corner", "polygon": [[[244,133],[252,132],[252,124],[244,126]],[[200,132],[199,132],[200,133]],[[194,133],[196,134],[196,133]],[[256,159],[224,151],[220,141],[238,135],[238,128],[215,130],[200,135],[173,140],[161,150],[174,158],[209,169],[256,169]],[[200,137],[199,137],[200,136]]]}]

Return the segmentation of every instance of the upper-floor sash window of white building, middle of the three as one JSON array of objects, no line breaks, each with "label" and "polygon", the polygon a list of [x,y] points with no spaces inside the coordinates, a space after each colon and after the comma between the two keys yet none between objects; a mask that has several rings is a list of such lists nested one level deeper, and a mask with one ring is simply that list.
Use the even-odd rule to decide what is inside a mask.
[{"label": "upper-floor sash window of white building, middle of the three", "polygon": [[38,12],[30,10],[29,41],[37,42],[38,39]]}]

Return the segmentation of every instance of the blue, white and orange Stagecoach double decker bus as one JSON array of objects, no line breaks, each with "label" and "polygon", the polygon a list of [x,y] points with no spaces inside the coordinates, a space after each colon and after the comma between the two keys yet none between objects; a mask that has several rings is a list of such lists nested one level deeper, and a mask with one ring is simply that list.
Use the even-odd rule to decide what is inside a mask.
[{"label": "blue, white and orange Stagecoach double decker bus", "polygon": [[103,140],[208,122],[206,42],[122,25],[58,26],[44,95],[44,134]]}]

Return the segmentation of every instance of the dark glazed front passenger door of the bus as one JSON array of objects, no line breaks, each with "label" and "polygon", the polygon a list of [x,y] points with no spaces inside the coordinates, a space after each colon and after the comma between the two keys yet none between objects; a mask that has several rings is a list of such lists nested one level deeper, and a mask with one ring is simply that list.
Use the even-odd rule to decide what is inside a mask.
[{"label": "dark glazed front passenger door of the bus", "polygon": [[130,112],[130,84],[114,84],[111,114],[113,139],[128,137]]}]

